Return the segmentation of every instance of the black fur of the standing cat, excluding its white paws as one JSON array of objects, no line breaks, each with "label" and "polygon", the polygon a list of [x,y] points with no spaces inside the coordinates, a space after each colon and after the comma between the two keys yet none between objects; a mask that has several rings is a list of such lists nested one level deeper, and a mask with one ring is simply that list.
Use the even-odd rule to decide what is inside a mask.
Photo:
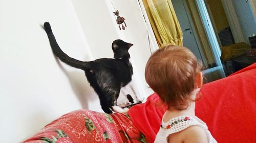
[{"label": "black fur of the standing cat, excluding its white paws", "polygon": [[101,108],[106,113],[112,113],[112,106],[116,104],[121,87],[124,87],[132,80],[133,67],[129,61],[130,54],[128,50],[133,44],[115,40],[112,43],[114,59],[102,58],[95,61],[82,62],[70,58],[60,49],[49,22],[44,23],[44,28],[53,53],[62,62],[84,70],[87,80],[99,96]]}]

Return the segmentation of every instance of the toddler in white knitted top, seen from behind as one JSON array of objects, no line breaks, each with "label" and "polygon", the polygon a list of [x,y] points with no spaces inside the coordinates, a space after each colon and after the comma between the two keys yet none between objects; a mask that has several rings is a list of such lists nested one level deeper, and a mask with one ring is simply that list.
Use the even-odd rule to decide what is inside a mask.
[{"label": "toddler in white knitted top, seen from behind", "polygon": [[206,124],[195,116],[195,101],[202,86],[196,56],[186,47],[166,46],[146,64],[146,82],[168,106],[155,142],[217,142]]}]

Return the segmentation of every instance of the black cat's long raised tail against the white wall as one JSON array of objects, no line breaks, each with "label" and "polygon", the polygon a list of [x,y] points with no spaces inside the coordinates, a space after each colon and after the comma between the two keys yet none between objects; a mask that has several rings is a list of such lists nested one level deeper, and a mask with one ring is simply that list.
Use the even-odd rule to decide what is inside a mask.
[{"label": "black cat's long raised tail against the white wall", "polygon": [[70,65],[71,67],[74,68],[78,68],[78,69],[82,69],[82,70],[86,70],[86,69],[90,69],[91,66],[89,64],[89,62],[82,62],[79,60],[76,60],[74,58],[71,58],[70,56],[68,56],[65,52],[63,52],[53,33],[52,33],[52,28],[49,22],[45,22],[44,23],[44,27],[45,27],[45,31],[47,33],[48,39],[50,41],[50,45],[52,47],[53,53],[64,63]]}]

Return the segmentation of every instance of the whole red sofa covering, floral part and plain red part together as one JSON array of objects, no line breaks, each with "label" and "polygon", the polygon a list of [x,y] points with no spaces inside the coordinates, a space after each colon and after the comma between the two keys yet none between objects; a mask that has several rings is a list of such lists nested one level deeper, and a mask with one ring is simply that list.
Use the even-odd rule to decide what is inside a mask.
[{"label": "whole red sofa covering, floral part and plain red part together", "polygon": [[[256,63],[204,84],[196,115],[218,142],[256,142]],[[156,94],[129,110],[108,115],[76,110],[46,125],[31,142],[153,142],[166,107]]]}]

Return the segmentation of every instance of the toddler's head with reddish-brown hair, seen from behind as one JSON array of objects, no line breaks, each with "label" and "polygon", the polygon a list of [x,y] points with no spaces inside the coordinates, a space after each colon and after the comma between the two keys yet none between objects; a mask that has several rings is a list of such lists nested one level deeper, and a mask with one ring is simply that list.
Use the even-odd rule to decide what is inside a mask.
[{"label": "toddler's head with reddish-brown hair, seen from behind", "polygon": [[196,56],[186,47],[166,46],[155,51],[145,69],[146,82],[168,108],[185,109],[195,101],[191,93],[201,87]]}]

